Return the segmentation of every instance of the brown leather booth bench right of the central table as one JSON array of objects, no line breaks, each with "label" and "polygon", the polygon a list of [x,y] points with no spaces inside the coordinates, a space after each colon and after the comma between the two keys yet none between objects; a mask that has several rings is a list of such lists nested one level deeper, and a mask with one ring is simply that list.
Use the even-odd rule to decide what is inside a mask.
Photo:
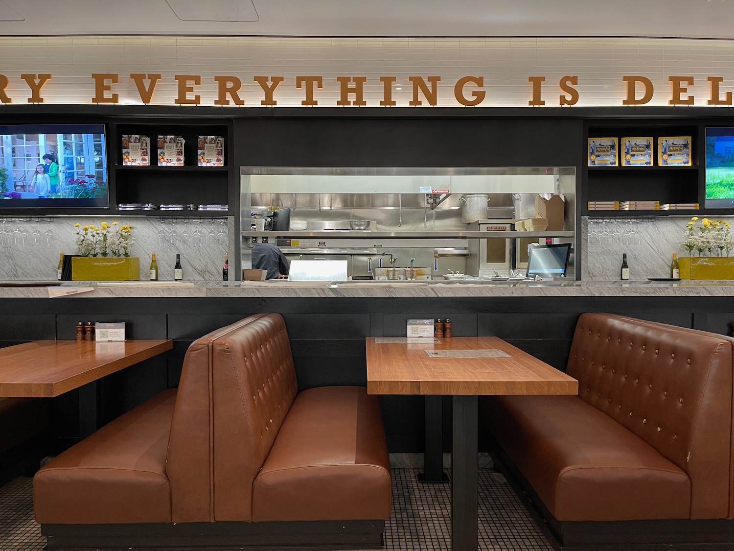
[{"label": "brown leather booth bench right of the central table", "polygon": [[733,345],[582,314],[567,365],[578,396],[482,400],[501,463],[557,549],[734,549]]}]

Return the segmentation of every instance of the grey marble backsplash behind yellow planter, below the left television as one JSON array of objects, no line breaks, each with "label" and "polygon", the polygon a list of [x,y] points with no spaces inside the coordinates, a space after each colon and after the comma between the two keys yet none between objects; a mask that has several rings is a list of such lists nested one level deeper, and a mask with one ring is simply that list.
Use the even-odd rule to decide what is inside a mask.
[{"label": "grey marble backsplash behind yellow planter, below the left television", "polygon": [[[134,226],[131,256],[140,259],[142,279],[147,278],[151,253],[156,253],[159,280],[172,280],[180,253],[184,281],[217,281],[222,278],[225,252],[232,251],[233,217],[0,217],[0,280],[55,280],[59,253],[76,254],[74,224],[99,226],[102,220]],[[230,268],[230,279],[234,272]]]}]

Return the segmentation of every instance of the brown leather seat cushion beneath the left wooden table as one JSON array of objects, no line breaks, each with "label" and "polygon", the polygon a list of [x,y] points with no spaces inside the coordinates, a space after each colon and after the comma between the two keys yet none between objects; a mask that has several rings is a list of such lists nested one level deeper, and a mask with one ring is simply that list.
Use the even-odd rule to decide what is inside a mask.
[{"label": "brown leather seat cushion beneath the left wooden table", "polygon": [[160,392],[40,469],[37,522],[171,522],[166,451],[175,398],[175,389]]}]

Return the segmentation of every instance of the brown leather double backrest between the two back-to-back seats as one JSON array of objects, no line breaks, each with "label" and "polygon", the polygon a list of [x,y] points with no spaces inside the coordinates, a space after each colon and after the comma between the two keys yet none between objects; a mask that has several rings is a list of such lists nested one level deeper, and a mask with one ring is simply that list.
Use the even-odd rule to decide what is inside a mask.
[{"label": "brown leather double backrest between the two back-to-back seats", "polygon": [[296,393],[280,314],[247,317],[189,347],[167,457],[173,522],[252,520],[252,481]]}]

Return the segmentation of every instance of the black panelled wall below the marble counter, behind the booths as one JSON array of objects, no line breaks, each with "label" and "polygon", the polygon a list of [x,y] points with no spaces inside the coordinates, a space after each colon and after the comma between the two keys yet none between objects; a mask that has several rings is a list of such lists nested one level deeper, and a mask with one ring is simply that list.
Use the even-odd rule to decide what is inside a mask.
[{"label": "black panelled wall below the marble counter, behind the booths", "polygon": [[[366,384],[365,337],[404,335],[408,317],[449,317],[457,336],[500,336],[563,370],[581,312],[608,311],[729,334],[734,298],[65,298],[5,299],[0,310],[5,312],[0,314],[0,341],[54,339],[56,334],[72,339],[78,320],[123,320],[133,338],[174,339],[170,352],[100,381],[97,415],[106,422],[160,389],[176,386],[194,339],[258,311],[283,314],[299,389],[308,389]],[[23,314],[7,314],[11,311]],[[79,404],[72,393],[59,398],[57,408],[68,409],[68,426],[73,426]],[[390,451],[420,452],[423,398],[383,396],[381,403]],[[446,412],[445,426],[449,419]]]}]

